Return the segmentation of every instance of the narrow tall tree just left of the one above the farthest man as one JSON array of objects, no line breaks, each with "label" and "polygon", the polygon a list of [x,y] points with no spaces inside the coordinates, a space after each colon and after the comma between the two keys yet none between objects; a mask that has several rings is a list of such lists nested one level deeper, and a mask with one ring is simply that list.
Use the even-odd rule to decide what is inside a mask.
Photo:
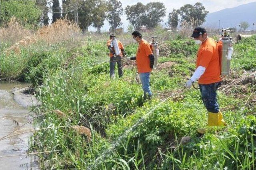
[{"label": "narrow tall tree just left of the one above the farthest man", "polygon": [[100,28],[104,25],[104,20],[108,11],[107,4],[104,0],[97,0],[96,7],[94,8],[93,13],[93,26],[97,28],[97,32],[100,33]]}]

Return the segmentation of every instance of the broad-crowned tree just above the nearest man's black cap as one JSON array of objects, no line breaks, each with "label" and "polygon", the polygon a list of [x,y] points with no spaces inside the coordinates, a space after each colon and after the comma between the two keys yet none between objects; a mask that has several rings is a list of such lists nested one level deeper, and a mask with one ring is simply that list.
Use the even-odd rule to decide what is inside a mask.
[{"label": "broad-crowned tree just above the nearest man's black cap", "polygon": [[197,2],[194,6],[186,4],[178,10],[182,22],[190,23],[192,26],[199,26],[205,22],[208,11],[204,6]]}]

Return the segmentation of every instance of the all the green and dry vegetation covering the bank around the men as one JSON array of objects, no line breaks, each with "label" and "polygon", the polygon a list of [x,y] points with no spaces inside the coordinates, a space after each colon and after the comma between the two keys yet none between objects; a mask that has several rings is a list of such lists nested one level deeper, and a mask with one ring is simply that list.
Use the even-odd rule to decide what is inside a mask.
[{"label": "all the green and dry vegetation covering the bank around the men", "polygon": [[[34,116],[56,109],[64,113],[45,114],[36,126],[79,125],[91,131],[91,137],[69,127],[35,132],[28,152],[59,150],[39,154],[40,168],[255,169],[255,35],[233,45],[232,73],[218,91],[228,126],[201,135],[196,130],[206,126],[207,112],[200,92],[180,91],[195,70],[198,49],[186,36],[188,30],[181,34],[156,28],[143,34],[146,40],[157,34],[160,44],[159,68],[150,82],[154,98],[144,102],[134,62],[123,63],[123,78],[109,78],[108,34],[82,34],[68,20],[33,32],[11,24],[1,29],[8,28],[26,32],[30,40],[15,45],[26,36],[14,42],[17,30],[0,34],[0,79],[32,84],[42,102],[34,108]],[[215,32],[210,35],[219,38]],[[132,36],[117,38],[124,42],[128,56],[134,56],[137,44]]]}]

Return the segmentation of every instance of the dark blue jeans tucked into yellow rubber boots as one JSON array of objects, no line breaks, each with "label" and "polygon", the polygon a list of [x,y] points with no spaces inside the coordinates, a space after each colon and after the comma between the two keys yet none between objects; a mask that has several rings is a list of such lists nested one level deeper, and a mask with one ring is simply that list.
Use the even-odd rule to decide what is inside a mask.
[{"label": "dark blue jeans tucked into yellow rubber boots", "polygon": [[220,85],[220,82],[212,84],[199,84],[202,100],[208,112],[219,112],[219,104],[217,102],[217,89],[220,87]]}]

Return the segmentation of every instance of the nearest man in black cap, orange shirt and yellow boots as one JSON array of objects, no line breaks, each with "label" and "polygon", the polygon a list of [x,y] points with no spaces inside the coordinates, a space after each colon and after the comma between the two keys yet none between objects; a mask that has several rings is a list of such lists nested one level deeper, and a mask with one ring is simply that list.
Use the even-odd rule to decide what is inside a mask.
[{"label": "nearest man in black cap, orange shirt and yellow boots", "polygon": [[221,85],[218,44],[207,36],[203,27],[196,27],[191,37],[200,47],[196,58],[196,71],[185,87],[190,88],[198,80],[202,100],[208,110],[208,126],[226,126],[219,110],[216,92]]}]

